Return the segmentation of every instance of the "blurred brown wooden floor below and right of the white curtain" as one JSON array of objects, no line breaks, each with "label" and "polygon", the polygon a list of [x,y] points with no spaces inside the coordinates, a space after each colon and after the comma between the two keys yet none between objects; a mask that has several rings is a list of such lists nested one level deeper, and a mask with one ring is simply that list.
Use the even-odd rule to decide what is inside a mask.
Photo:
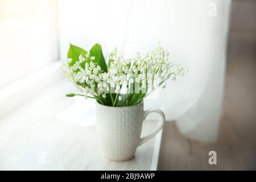
[{"label": "blurred brown wooden floor below and right of the white curtain", "polygon": [[[166,122],[158,170],[256,169],[256,61],[255,57],[229,57],[224,96],[224,117],[215,144],[183,137]],[[209,165],[208,152],[217,152],[217,165]]]}]

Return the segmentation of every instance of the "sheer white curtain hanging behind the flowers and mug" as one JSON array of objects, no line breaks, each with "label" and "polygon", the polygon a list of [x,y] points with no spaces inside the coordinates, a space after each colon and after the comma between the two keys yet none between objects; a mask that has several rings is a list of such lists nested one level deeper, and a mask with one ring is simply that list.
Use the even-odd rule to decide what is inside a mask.
[{"label": "sheer white curtain hanging behind the flowers and mug", "polygon": [[68,43],[124,55],[146,53],[160,41],[174,63],[187,66],[183,78],[169,81],[145,101],[160,107],[181,133],[205,142],[217,139],[225,73],[230,0],[58,1],[60,55]]}]

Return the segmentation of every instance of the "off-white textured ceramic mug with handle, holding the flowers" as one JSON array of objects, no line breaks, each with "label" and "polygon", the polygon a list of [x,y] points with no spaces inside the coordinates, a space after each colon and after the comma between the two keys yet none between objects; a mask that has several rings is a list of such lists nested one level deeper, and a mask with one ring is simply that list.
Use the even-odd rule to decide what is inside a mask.
[{"label": "off-white textured ceramic mug with handle, holding the flowers", "polygon": [[[150,113],[161,116],[155,131],[141,138],[142,123]],[[105,158],[124,161],[133,158],[138,146],[154,137],[164,125],[163,111],[143,110],[143,102],[135,106],[111,107],[96,102],[96,124],[98,137]]]}]

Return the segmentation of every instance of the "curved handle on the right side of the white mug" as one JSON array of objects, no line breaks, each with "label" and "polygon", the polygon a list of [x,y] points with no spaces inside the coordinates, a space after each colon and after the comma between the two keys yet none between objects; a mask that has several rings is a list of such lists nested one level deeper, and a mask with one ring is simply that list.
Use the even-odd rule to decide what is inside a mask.
[{"label": "curved handle on the right side of the white mug", "polygon": [[163,128],[164,121],[166,121],[166,117],[164,116],[163,111],[159,110],[159,109],[144,111],[144,115],[143,115],[143,120],[144,121],[145,121],[147,115],[150,114],[150,113],[158,113],[158,114],[160,114],[160,117],[161,117],[161,119],[160,119],[160,126],[158,126],[153,133],[147,135],[146,137],[141,138],[141,140],[139,141],[138,146],[141,146],[143,143],[147,142],[149,139],[154,137]]}]

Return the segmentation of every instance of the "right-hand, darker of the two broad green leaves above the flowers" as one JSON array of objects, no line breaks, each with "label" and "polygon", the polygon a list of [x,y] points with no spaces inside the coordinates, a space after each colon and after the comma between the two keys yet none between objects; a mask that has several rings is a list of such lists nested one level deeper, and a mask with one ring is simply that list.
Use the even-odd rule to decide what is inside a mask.
[{"label": "right-hand, darker of the two broad green leaves above the flowers", "polygon": [[90,56],[95,57],[94,62],[100,65],[102,71],[108,72],[100,44],[97,43],[90,49]]}]

